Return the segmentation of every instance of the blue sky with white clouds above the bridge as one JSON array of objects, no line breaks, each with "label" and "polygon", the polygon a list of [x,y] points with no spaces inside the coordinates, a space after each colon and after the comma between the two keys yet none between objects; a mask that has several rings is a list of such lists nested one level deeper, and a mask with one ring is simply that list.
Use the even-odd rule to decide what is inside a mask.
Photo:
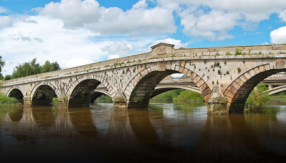
[{"label": "blue sky with white clouds above the bridge", "polygon": [[2,73],[37,58],[69,68],[179,47],[286,43],[285,0],[0,0]]}]

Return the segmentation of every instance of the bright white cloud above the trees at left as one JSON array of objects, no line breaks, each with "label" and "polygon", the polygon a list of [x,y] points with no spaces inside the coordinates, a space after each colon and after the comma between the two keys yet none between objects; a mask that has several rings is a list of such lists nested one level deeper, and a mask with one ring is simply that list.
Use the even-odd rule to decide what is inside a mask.
[{"label": "bright white cloud above the trees at left", "polygon": [[38,58],[40,64],[46,60],[58,61],[62,68],[106,59],[106,53],[100,47],[110,41],[91,41],[92,37],[98,36],[96,33],[65,29],[62,20],[46,16],[28,17],[38,23],[28,23],[20,18],[13,26],[0,29],[1,56],[4,61],[14,62],[3,68],[7,74],[11,74],[18,64],[33,58]]}]

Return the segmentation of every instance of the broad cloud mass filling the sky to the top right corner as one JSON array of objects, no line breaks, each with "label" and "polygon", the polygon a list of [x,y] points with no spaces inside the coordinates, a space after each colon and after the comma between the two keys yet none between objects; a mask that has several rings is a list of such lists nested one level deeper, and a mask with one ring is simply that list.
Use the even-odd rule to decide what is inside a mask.
[{"label": "broad cloud mass filling the sky to the top right corner", "polygon": [[209,40],[233,38],[228,31],[235,26],[255,30],[260,21],[273,13],[286,20],[286,3],[282,0],[158,0],[162,7],[176,11],[183,32]]}]

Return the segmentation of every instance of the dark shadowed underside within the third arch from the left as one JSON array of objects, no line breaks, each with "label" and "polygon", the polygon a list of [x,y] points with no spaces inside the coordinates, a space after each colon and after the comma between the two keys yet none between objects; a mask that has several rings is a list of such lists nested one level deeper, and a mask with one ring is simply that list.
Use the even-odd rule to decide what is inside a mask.
[{"label": "dark shadowed underside within the third arch from the left", "polygon": [[78,83],[71,92],[68,107],[89,107],[94,90],[100,83],[96,79],[85,79]]}]

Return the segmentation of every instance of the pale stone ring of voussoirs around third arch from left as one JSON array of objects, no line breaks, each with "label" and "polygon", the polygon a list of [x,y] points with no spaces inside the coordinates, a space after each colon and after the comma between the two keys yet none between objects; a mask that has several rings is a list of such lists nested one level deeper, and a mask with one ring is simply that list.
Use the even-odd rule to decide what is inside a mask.
[{"label": "pale stone ring of voussoirs around third arch from left", "polygon": [[99,81],[100,83],[103,83],[112,98],[116,95],[114,88],[111,86],[111,84],[108,83],[108,81],[106,79],[104,79],[98,75],[86,74],[86,75],[80,76],[71,84],[71,86],[65,92],[66,96],[68,98],[70,98],[71,93],[74,90],[74,88],[77,86],[77,84],[79,84],[81,81],[84,81],[86,79],[95,79],[95,80]]}]

